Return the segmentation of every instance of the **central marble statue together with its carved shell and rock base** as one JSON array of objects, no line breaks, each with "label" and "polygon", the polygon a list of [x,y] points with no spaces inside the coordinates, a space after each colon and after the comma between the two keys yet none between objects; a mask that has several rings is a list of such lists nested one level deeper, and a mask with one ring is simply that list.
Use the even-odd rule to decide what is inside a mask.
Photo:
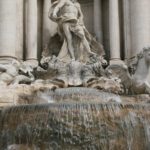
[{"label": "central marble statue together with its carved shell and rock base", "polygon": [[64,44],[58,56],[50,55],[47,48],[43,50],[40,66],[46,72],[39,69],[37,73],[43,72],[45,80],[59,88],[93,87],[120,93],[120,82],[107,78],[104,50],[84,26],[80,4],[76,0],[55,1],[49,18],[58,24]]}]

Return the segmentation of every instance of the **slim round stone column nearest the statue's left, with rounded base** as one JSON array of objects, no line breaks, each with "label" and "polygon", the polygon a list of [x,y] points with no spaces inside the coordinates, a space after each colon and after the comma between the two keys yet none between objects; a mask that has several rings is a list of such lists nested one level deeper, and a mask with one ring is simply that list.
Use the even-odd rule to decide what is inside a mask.
[{"label": "slim round stone column nearest the statue's left, with rounded base", "polygon": [[38,11],[37,0],[27,1],[27,32],[26,32],[26,60],[37,64],[38,49]]}]

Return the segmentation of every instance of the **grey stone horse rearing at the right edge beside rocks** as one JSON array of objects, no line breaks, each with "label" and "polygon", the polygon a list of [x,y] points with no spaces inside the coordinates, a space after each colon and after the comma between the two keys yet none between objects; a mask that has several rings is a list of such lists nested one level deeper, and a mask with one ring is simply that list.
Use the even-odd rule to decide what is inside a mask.
[{"label": "grey stone horse rearing at the right edge beside rocks", "polygon": [[106,70],[121,79],[125,92],[150,94],[150,48],[144,48],[130,65],[110,65]]}]

